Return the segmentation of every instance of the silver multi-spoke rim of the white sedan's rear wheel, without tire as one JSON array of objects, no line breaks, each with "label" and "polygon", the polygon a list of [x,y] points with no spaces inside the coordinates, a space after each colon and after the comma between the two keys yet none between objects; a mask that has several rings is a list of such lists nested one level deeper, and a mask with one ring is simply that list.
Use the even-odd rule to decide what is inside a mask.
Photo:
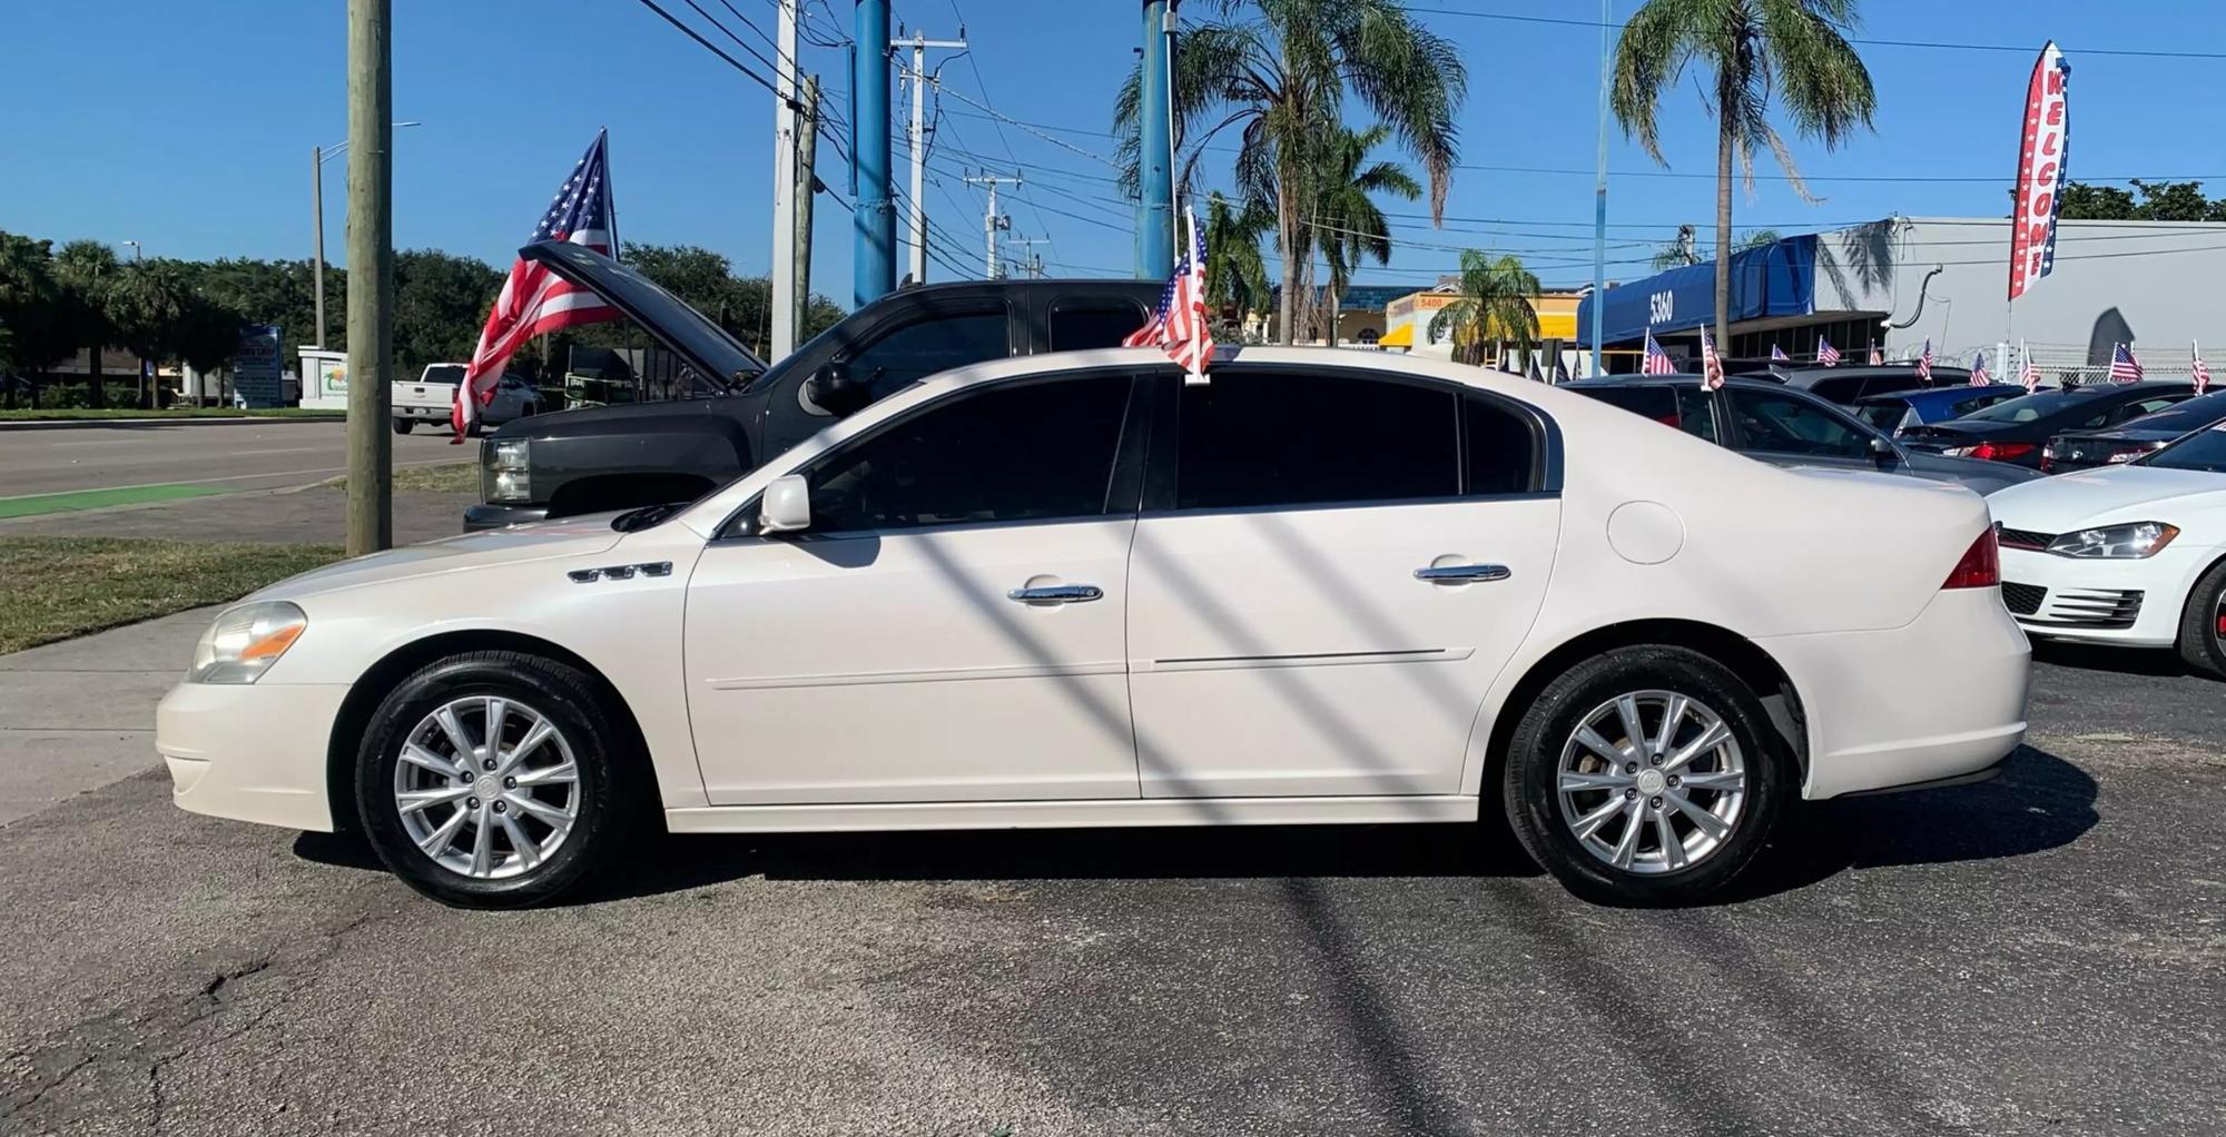
[{"label": "silver multi-spoke rim of the white sedan's rear wheel, without tire", "polygon": [[1747,799],[1745,757],[1723,714],[1667,690],[1618,694],[1578,719],[1554,781],[1576,843],[1638,874],[1705,861]]}]

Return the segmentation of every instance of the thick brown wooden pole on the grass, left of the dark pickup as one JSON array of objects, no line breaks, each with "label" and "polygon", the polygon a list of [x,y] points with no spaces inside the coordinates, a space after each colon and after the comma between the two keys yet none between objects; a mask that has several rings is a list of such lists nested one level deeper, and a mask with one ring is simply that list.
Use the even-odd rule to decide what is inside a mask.
[{"label": "thick brown wooden pole on the grass, left of the dark pickup", "polygon": [[394,545],[394,0],[347,0],[347,554]]}]

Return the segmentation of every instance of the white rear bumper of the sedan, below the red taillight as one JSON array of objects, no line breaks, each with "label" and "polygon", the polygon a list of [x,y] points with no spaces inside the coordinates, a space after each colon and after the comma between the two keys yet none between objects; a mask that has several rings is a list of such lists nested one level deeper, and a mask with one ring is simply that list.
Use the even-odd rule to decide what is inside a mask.
[{"label": "white rear bumper of the sedan, below the red taillight", "polygon": [[1997,590],[1941,592],[1905,627],[1759,643],[1801,692],[1801,797],[1979,774],[2026,736],[2032,645]]}]

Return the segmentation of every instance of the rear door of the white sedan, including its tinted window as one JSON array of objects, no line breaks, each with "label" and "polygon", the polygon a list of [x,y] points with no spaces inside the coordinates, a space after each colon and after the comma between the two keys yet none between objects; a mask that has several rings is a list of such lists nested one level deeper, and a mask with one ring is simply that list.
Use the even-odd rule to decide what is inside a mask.
[{"label": "rear door of the white sedan, including its tinted window", "polygon": [[1166,376],[1129,561],[1144,797],[1458,790],[1560,525],[1552,423],[1465,392]]}]

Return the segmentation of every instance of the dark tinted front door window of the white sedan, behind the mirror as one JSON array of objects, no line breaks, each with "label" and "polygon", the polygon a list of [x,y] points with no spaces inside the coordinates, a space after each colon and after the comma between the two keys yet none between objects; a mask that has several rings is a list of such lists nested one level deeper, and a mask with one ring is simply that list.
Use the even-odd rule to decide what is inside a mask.
[{"label": "dark tinted front door window of the white sedan, behind the mirror", "polygon": [[806,472],[812,530],[866,532],[1106,512],[1129,376],[997,387],[935,403]]}]

